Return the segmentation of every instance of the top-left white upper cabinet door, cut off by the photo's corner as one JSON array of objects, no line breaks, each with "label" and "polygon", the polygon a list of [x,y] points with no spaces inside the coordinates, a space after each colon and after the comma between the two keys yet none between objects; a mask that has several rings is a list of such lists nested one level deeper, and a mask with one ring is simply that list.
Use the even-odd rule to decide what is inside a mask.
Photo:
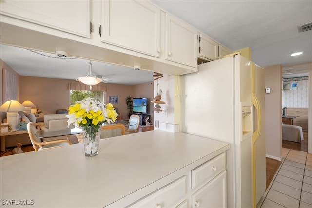
[{"label": "top-left white upper cabinet door, cut off by the photo's corner", "polygon": [[6,0],[1,14],[82,37],[90,37],[89,0]]}]

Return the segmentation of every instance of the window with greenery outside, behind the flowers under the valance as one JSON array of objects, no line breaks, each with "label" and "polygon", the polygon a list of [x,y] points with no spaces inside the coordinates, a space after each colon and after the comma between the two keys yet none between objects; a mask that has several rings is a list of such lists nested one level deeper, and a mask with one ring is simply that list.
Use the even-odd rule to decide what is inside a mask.
[{"label": "window with greenery outside, behind the flowers under the valance", "polygon": [[88,91],[88,90],[70,90],[70,105],[75,105],[77,101],[94,97],[97,100],[105,103],[105,92]]}]

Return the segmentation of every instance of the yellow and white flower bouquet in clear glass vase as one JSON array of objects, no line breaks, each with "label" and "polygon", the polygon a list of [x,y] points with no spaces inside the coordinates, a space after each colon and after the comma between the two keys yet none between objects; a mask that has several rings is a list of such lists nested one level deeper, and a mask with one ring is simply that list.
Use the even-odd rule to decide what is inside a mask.
[{"label": "yellow and white flower bouquet in clear glass vase", "polygon": [[88,157],[98,155],[102,124],[105,122],[114,123],[117,116],[118,114],[111,103],[105,105],[90,97],[70,106],[69,114],[66,115],[68,126],[74,124],[75,127],[83,129],[84,150]]}]

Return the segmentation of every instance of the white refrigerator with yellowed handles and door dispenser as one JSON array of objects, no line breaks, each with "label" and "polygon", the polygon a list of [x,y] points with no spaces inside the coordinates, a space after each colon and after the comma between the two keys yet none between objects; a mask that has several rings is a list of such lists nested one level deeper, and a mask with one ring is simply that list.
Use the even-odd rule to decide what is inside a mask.
[{"label": "white refrigerator with yellowed handles and door dispenser", "polygon": [[264,95],[264,69],[239,54],[181,76],[181,132],[231,144],[227,207],[255,207],[266,189]]}]

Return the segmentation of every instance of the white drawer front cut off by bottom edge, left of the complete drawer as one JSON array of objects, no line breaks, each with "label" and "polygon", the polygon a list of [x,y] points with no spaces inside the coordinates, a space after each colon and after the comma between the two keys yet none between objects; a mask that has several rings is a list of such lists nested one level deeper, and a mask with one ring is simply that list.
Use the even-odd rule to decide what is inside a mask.
[{"label": "white drawer front cut off by bottom edge, left of the complete drawer", "polygon": [[186,176],[156,190],[130,207],[151,208],[151,207],[173,207],[178,200],[186,194]]}]

